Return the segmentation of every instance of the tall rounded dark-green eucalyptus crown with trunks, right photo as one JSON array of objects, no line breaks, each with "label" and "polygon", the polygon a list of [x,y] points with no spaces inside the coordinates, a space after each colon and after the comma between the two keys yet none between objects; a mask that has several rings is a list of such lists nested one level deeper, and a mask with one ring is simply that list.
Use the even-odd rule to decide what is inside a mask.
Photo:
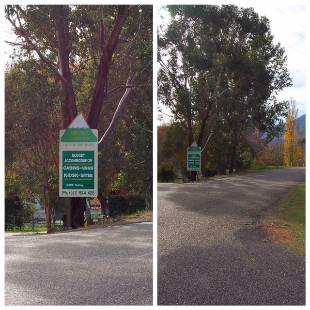
[{"label": "tall rounded dark-green eucalyptus crown with trunks, right photo", "polygon": [[189,145],[203,146],[206,124],[219,111],[230,123],[233,162],[245,124],[272,133],[283,115],[285,104],[274,96],[291,81],[284,50],[273,45],[268,19],[252,8],[167,8],[171,22],[158,39],[158,98],[187,128]]}]

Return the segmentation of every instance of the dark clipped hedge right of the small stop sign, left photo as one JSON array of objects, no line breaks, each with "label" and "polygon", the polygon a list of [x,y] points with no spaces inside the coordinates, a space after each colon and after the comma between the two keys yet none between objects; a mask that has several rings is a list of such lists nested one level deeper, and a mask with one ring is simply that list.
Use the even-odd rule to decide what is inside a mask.
[{"label": "dark clipped hedge right of the small stop sign, left photo", "polygon": [[109,216],[119,217],[145,210],[145,199],[141,195],[110,196],[108,202]]}]

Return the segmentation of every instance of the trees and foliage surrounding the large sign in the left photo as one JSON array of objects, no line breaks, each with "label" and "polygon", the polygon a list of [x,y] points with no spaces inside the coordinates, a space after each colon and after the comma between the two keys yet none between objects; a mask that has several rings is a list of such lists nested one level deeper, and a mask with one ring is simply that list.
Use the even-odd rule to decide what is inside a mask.
[{"label": "trees and foliage surrounding the large sign in the left photo", "polygon": [[[101,135],[98,198],[140,195],[152,210],[153,5],[4,11],[12,26],[4,71],[6,231],[31,221],[24,202],[40,202],[47,228],[54,213],[67,212],[67,198],[59,197],[59,132],[81,111]],[[83,227],[85,199],[71,197],[70,205],[71,225]]]}]

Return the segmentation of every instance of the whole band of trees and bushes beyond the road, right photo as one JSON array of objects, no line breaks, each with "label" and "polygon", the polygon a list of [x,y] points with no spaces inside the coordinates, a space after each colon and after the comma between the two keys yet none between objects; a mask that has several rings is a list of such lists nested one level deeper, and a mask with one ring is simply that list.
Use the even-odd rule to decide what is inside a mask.
[{"label": "whole band of trees and bushes beyond the road, right photo", "polygon": [[160,10],[159,118],[170,119],[157,128],[158,182],[200,179],[187,171],[194,142],[202,177],[305,165],[305,118],[293,97],[277,99],[292,78],[268,19],[234,5]]}]

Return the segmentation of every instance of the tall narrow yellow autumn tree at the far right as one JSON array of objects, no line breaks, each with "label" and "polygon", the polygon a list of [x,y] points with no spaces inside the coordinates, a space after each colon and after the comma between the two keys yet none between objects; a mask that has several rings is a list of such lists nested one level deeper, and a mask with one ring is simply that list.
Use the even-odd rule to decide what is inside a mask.
[{"label": "tall narrow yellow autumn tree at the far right", "polygon": [[284,160],[287,166],[297,166],[298,158],[302,152],[301,145],[298,143],[301,128],[297,123],[297,115],[296,100],[291,97],[287,108],[284,134]]}]

